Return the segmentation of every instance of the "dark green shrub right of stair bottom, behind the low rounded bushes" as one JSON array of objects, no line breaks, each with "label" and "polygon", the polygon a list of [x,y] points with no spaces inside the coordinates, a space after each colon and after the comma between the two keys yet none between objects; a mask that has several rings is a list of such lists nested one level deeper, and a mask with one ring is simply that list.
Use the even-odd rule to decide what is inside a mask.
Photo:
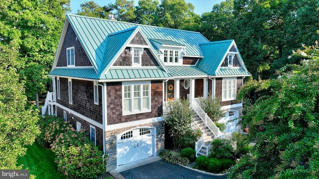
[{"label": "dark green shrub right of stair bottom, behind the low rounded bushes", "polygon": [[234,149],[228,140],[213,140],[210,147],[210,158],[231,159],[234,157]]}]

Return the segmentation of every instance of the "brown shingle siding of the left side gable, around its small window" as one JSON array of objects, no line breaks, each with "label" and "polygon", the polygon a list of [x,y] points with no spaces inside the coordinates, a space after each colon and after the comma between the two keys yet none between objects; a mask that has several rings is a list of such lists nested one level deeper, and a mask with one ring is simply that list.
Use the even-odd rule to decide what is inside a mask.
[{"label": "brown shingle siding of the left side gable, around its small window", "polygon": [[92,67],[92,64],[86,55],[80,41],[76,38],[76,34],[71,25],[65,34],[63,45],[61,48],[60,56],[58,59],[57,67],[66,67],[66,48],[74,47],[74,59],[76,67]]}]

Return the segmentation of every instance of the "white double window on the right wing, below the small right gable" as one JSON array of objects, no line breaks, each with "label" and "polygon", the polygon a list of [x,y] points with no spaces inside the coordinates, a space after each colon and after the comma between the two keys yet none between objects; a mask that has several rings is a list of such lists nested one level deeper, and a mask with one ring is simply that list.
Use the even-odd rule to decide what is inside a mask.
[{"label": "white double window on the right wing, below the small right gable", "polygon": [[222,101],[236,99],[236,79],[224,78],[222,85]]}]

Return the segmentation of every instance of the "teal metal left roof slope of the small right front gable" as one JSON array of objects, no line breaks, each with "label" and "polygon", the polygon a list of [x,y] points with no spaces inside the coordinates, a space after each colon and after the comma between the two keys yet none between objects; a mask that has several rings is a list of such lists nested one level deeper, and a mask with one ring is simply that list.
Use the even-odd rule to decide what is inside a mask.
[{"label": "teal metal left roof slope of the small right front gable", "polygon": [[214,75],[233,42],[234,40],[223,40],[199,44],[204,57],[196,66],[209,75]]}]

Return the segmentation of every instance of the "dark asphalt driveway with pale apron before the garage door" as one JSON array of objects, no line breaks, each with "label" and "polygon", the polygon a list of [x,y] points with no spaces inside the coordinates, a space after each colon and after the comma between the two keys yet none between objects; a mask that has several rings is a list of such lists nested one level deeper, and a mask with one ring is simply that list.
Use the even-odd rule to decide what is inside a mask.
[{"label": "dark asphalt driveway with pale apron before the garage door", "polygon": [[226,179],[226,176],[211,176],[203,173],[170,164],[160,157],[126,164],[112,171],[116,179]]}]

